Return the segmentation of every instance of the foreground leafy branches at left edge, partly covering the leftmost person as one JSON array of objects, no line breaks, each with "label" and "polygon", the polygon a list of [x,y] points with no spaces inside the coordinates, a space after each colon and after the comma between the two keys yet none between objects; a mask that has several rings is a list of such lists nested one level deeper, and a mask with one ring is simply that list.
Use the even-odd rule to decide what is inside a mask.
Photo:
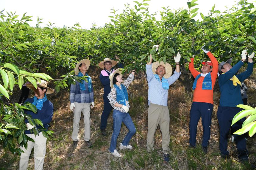
[{"label": "foreground leafy branches at left edge, partly covering the leftmost person", "polygon": [[[17,66],[10,63],[5,63],[1,70],[1,80],[4,83],[4,86],[0,84],[0,143],[3,144],[4,148],[8,148],[13,154],[21,155],[23,152],[20,148],[17,147],[17,144],[27,148],[27,141],[35,142],[32,138],[24,134],[26,130],[25,119],[28,119],[31,125],[41,125],[43,123],[39,119],[33,119],[31,115],[24,113],[24,109],[30,110],[34,113],[37,113],[37,108],[31,103],[25,103],[23,106],[18,103],[13,104],[4,104],[2,97],[5,96],[9,99],[9,95],[12,94],[10,91],[13,90],[14,84],[19,84],[21,88],[25,80],[31,82],[35,87],[37,87],[36,80],[53,80],[49,75],[43,73],[29,73],[25,70],[19,70]],[[15,76],[14,76],[15,75]],[[43,129],[42,129],[43,130]],[[35,135],[39,134],[37,128],[32,128]],[[52,136],[52,131],[42,131],[45,137],[48,135]]]}]

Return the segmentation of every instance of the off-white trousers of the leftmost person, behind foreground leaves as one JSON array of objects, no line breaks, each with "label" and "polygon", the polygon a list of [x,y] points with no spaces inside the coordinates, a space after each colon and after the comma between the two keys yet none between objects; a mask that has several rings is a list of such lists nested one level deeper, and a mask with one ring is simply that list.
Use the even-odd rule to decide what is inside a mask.
[{"label": "off-white trousers of the leftmost person, behind foreground leaves", "polygon": [[26,170],[29,165],[29,155],[31,153],[32,148],[34,147],[34,159],[35,159],[35,170],[43,169],[43,162],[46,151],[46,137],[43,136],[42,132],[39,133],[39,136],[35,136],[35,134],[26,134],[30,138],[34,139],[35,143],[28,141],[27,150],[25,147],[20,147],[24,153],[21,153],[20,159],[20,170]]}]

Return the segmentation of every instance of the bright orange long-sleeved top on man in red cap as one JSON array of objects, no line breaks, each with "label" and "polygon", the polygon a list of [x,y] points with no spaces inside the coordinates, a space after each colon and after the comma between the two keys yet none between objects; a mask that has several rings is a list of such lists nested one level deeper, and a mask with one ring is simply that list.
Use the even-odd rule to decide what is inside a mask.
[{"label": "bright orange long-sleeved top on man in red cap", "polygon": [[[216,58],[213,56],[211,52],[208,52],[207,55],[210,58],[211,62],[213,63],[213,70],[210,73],[212,78],[212,90],[203,90],[202,86],[203,86],[203,81],[205,77],[202,77],[202,76],[199,77],[199,79],[196,82],[193,101],[213,104],[213,88],[218,76],[218,61],[216,60]],[[188,65],[188,69],[194,78],[196,78],[198,74],[201,74],[200,72],[196,71],[196,69],[194,68],[194,58],[191,58],[191,62]]]}]

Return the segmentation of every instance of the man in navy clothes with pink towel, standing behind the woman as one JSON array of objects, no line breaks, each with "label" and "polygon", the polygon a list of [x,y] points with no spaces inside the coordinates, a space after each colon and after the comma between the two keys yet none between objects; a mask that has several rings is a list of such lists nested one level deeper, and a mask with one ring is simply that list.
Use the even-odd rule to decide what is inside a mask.
[{"label": "man in navy clothes with pink towel, standing behind the woman", "polygon": [[[107,95],[110,93],[110,80],[109,75],[115,72],[114,66],[117,65],[119,58],[115,57],[117,61],[111,60],[110,58],[104,58],[103,61],[99,63],[99,67],[103,70],[100,72],[99,80],[103,85],[103,101],[104,101],[104,108],[101,115],[101,123],[100,123],[100,130],[103,136],[107,136],[106,128],[107,128],[107,119],[109,117],[110,112],[113,110],[113,107],[109,104],[109,99]],[[118,67],[124,68],[122,63],[118,63]]]}]

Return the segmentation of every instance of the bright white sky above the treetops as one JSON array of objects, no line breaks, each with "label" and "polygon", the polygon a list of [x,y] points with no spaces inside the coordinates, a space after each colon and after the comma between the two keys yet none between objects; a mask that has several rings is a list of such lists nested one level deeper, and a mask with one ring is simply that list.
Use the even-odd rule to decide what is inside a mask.
[{"label": "bright white sky above the treetops", "polygon": [[[137,0],[140,3],[142,0]],[[149,12],[157,12],[156,18],[159,18],[159,11],[163,9],[161,7],[170,7],[170,9],[184,8],[188,9],[188,0],[151,0],[145,3],[150,4]],[[253,0],[248,0],[253,2]],[[235,0],[198,0],[196,3],[199,5],[198,14],[194,19],[200,19],[200,12],[207,15],[211,7],[215,4],[215,10],[221,12],[230,9],[233,5],[237,4]],[[32,15],[32,20],[29,25],[35,26],[37,17],[43,18],[43,24],[41,27],[46,26],[48,21],[55,23],[55,27],[73,26],[75,23],[80,23],[82,28],[88,29],[92,26],[92,23],[96,23],[97,26],[104,26],[104,23],[109,23],[109,15],[112,15],[111,10],[119,9],[117,13],[121,13],[125,9],[124,4],[130,4],[134,8],[135,3],[133,0],[0,0],[0,10],[5,12],[15,12],[22,16],[25,12],[26,15]],[[256,5],[255,5],[256,6]]]}]

